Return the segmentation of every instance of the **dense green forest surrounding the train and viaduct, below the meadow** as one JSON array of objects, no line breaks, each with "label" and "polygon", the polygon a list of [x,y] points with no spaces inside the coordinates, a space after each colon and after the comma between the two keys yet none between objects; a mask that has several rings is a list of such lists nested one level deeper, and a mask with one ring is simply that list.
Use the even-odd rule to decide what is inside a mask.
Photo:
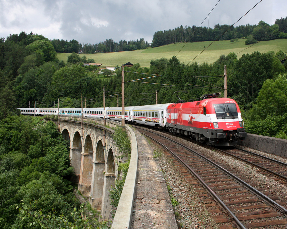
[{"label": "dense green forest surrounding the train and viaduct, below the meadow", "polygon": [[[287,139],[284,60],[286,50],[240,58],[230,53],[214,63],[185,65],[175,56],[152,60],[149,68],[134,63],[125,67],[125,81],[144,78],[141,73],[160,76],[141,80],[147,83],[127,82],[125,106],[154,104],[156,91],[158,103],[177,102],[177,91],[184,91],[182,100],[223,92],[226,65],[227,96],[240,106],[247,132]],[[117,106],[121,70],[103,76],[97,66],[84,66],[87,61],[75,50],[67,62],[59,61],[53,41],[42,35],[22,32],[0,38],[0,228],[57,228],[53,220],[68,228],[106,228],[81,218],[72,193],[68,145],[57,127],[39,117],[23,117],[16,109],[35,102],[37,107],[57,107],[58,98],[60,107],[80,107],[81,96],[87,107],[102,107],[103,87],[105,106]]]}]

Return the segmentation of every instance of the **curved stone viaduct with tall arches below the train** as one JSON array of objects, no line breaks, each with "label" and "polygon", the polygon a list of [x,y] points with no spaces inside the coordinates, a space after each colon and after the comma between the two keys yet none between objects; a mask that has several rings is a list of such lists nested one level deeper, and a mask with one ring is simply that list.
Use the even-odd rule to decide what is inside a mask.
[{"label": "curved stone viaduct with tall arches below the train", "polygon": [[[51,119],[49,119],[51,120]],[[78,190],[89,198],[93,209],[108,218],[111,210],[109,191],[121,174],[116,173],[125,159],[119,152],[113,127],[121,123],[89,117],[60,116],[53,120],[65,140],[70,142],[70,160]]]}]

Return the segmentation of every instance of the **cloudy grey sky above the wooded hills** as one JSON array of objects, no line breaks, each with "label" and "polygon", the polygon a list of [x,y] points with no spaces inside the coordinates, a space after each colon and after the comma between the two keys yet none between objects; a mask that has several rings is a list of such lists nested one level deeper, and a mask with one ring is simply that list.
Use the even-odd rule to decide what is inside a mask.
[{"label": "cloudy grey sky above the wooded hills", "polygon": [[[81,44],[97,44],[110,38],[115,42],[144,38],[151,43],[156,31],[181,25],[202,23],[203,27],[213,28],[218,23],[234,24],[260,0],[218,1],[0,0],[0,37],[32,31],[50,40],[75,39]],[[273,25],[277,18],[286,16],[284,1],[262,0],[234,26],[256,25],[261,20]]]}]

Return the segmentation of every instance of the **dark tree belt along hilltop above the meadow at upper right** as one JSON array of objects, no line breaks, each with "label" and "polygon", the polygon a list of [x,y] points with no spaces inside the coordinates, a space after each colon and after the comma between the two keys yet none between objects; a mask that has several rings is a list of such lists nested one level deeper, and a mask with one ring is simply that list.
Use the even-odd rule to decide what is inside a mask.
[{"label": "dark tree belt along hilltop above the meadow at upper right", "polygon": [[286,31],[287,17],[276,19],[274,25],[268,25],[264,21],[259,21],[258,25],[214,25],[212,27],[177,27],[175,29],[160,30],[154,33],[151,47],[171,44],[174,42],[198,42],[215,40],[232,40],[242,37],[250,37],[252,44],[257,41],[274,40],[278,38],[287,38]]}]

